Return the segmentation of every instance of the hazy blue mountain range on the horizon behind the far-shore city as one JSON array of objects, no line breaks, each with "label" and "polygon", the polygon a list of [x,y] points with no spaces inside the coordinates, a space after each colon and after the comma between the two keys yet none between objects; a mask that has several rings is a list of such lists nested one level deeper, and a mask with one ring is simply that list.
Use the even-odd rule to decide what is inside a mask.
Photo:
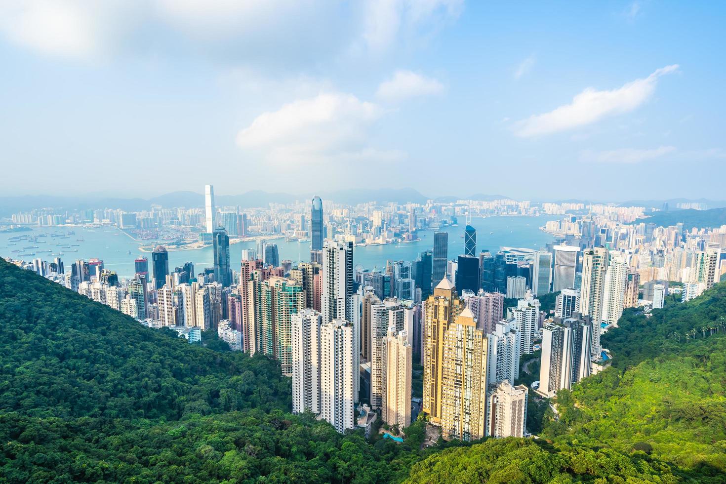
[{"label": "hazy blue mountain range on the horizon behind the far-shore city", "polygon": [[[309,194],[289,194],[282,192],[263,192],[262,190],[251,190],[239,195],[216,195],[217,206],[239,206],[240,208],[266,207],[270,203],[291,203],[295,200],[309,200],[314,195],[319,195],[323,200],[333,200],[345,205],[357,205],[365,202],[383,203],[425,203],[431,200],[415,189],[348,189],[330,190]],[[468,197],[438,197],[434,200],[440,203],[455,202],[456,200],[498,200],[508,198],[504,195],[473,194]],[[53,195],[23,195],[18,197],[0,197],[0,216],[9,216],[23,210],[33,208],[62,208],[65,210],[85,210],[91,208],[120,208],[122,210],[136,211],[147,210],[152,205],[162,207],[203,207],[204,194],[196,192],[171,192],[152,197],[142,198],[119,198],[104,197],[103,195],[87,195],[84,197],[57,197]]]}]

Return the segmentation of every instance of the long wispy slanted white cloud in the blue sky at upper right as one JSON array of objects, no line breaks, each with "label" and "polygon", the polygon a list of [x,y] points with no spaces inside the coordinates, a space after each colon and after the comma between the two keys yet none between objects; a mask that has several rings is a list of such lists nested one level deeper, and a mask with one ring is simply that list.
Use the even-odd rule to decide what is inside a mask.
[{"label": "long wispy slanted white cloud in the blue sky at upper right", "polygon": [[636,79],[610,91],[597,91],[589,87],[577,94],[570,104],[519,121],[515,126],[515,134],[527,138],[558,133],[635,110],[653,95],[661,75],[677,69],[678,65],[669,65],[656,70],[647,78]]}]

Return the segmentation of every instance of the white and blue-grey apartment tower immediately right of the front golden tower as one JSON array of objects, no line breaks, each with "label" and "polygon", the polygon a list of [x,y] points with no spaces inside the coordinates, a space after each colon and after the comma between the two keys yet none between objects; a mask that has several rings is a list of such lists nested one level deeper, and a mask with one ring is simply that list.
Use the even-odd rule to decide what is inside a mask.
[{"label": "white and blue-grey apartment tower immediately right of the front golden tower", "polygon": [[519,358],[522,335],[515,321],[499,321],[494,331],[486,335],[486,385],[509,382],[519,377]]}]

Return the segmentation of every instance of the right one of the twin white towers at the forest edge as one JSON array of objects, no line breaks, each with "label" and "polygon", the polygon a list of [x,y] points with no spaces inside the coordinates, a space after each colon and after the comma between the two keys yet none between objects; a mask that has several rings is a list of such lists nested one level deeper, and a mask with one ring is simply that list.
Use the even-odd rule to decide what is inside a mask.
[{"label": "right one of the twin white towers at the forest edge", "polygon": [[354,366],[356,330],[350,321],[333,319],[320,327],[320,414],[338,432],[355,426]]}]

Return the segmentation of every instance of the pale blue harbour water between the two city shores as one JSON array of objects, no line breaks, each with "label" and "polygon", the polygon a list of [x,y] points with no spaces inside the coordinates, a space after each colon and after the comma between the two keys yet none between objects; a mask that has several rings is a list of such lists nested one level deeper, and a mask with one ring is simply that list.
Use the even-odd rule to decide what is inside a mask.
[{"label": "pale blue harbour water between the two city shores", "polygon": [[[537,249],[544,247],[552,240],[552,235],[539,230],[546,221],[558,220],[560,216],[539,216],[539,217],[486,217],[473,218],[471,225],[477,230],[476,250],[488,249],[496,252],[500,247],[529,247]],[[449,226],[444,229],[449,233],[449,258],[455,258],[463,253],[465,223],[458,226]],[[75,234],[68,235],[68,238],[51,237],[51,234],[67,234],[74,231]],[[27,239],[19,242],[12,242],[9,239],[28,235],[37,237],[38,234],[47,234],[47,237],[38,237],[38,242],[28,242]],[[433,231],[418,231],[420,240],[415,242],[401,242],[399,244],[367,245],[354,249],[354,266],[363,268],[385,268],[386,261],[413,261],[417,255],[424,250],[433,248]],[[310,242],[285,242],[285,239],[275,239],[270,242],[277,244],[280,260],[290,259],[293,263],[298,261],[309,261]],[[9,245],[15,244],[15,245]],[[70,247],[61,248],[61,245]],[[44,227],[33,226],[32,231],[21,231],[11,233],[0,233],[0,255],[15,259],[30,261],[33,258],[42,258],[45,261],[52,261],[54,257],[60,257],[66,267],[76,259],[99,258],[104,261],[104,267],[116,271],[120,277],[134,276],[134,259],[143,255],[151,260],[150,253],[139,250],[140,245],[149,245],[149,241],[136,242],[115,227],[105,226],[97,228],[73,227]],[[230,247],[230,259],[232,268],[237,269],[242,249],[254,248],[256,242],[240,242]],[[38,246],[38,249],[23,250],[23,247]],[[20,250],[20,252],[12,252]],[[50,252],[45,252],[50,250]],[[44,251],[44,252],[38,252]],[[131,254],[129,254],[129,251]],[[21,257],[20,253],[32,253],[34,256]],[[62,252],[62,255],[58,255]],[[212,247],[207,246],[200,249],[176,250],[169,253],[169,268],[181,266],[187,261],[194,263],[195,271],[201,271],[204,267],[212,266]],[[151,261],[150,261],[151,266]]]}]

